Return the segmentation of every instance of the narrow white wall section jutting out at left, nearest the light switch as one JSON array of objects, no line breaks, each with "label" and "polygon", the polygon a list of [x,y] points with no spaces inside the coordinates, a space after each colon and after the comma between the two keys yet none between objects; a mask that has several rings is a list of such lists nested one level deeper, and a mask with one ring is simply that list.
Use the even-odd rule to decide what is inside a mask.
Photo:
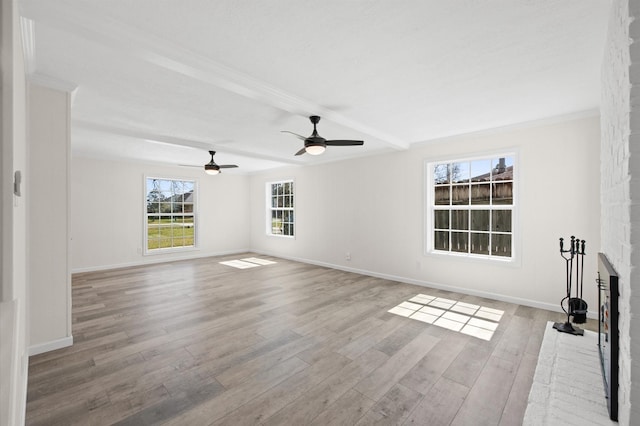
[{"label": "narrow white wall section jutting out at left, nearest the light switch", "polygon": [[29,353],[73,344],[66,92],[29,84]]}]

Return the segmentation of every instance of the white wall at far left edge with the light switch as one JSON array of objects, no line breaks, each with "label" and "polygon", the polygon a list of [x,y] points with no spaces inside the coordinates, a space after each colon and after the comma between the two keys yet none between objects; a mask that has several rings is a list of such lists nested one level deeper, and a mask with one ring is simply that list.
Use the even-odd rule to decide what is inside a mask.
[{"label": "white wall at far left edge with the light switch", "polygon": [[[18,22],[17,2],[2,0],[0,425],[24,423],[27,394],[27,197],[24,190],[29,176],[26,167],[24,61]],[[13,195],[16,170],[23,174],[24,192],[21,197]]]}]

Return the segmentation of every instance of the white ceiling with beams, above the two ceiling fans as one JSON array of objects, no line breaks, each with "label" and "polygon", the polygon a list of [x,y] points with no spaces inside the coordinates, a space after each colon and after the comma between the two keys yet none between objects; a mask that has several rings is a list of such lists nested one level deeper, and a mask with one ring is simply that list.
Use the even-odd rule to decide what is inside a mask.
[{"label": "white ceiling with beams, above the two ceiling fans", "polygon": [[[20,0],[74,155],[252,172],[596,110],[609,0]],[[320,115],[327,139],[294,153]]]}]

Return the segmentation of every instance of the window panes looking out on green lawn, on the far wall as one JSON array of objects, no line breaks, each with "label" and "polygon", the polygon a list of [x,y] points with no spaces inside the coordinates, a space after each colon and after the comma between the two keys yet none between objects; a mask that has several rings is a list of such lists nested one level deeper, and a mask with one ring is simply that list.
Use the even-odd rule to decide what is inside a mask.
[{"label": "window panes looking out on green lawn, on the far wall", "polygon": [[195,200],[195,181],[146,178],[147,252],[195,247]]}]

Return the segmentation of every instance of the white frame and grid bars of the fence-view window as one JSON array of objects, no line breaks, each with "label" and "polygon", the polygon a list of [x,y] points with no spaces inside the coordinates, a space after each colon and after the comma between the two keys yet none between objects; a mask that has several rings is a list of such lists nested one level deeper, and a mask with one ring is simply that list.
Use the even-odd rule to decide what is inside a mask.
[{"label": "white frame and grid bars of the fence-view window", "polygon": [[[435,181],[434,181],[434,168],[438,164],[453,164],[453,163],[471,163],[474,161],[483,161],[483,160],[495,160],[502,157],[510,157],[513,159],[513,176],[512,176],[512,193],[513,193],[513,201],[511,204],[472,204],[469,201],[467,204],[458,205],[458,204],[448,204],[441,205],[440,207],[435,204]],[[470,154],[461,157],[441,157],[441,158],[429,158],[424,160],[424,179],[423,182],[425,184],[424,187],[424,255],[425,256],[439,256],[442,258],[448,259],[468,259],[468,260],[477,260],[481,262],[499,262],[503,264],[509,264],[518,266],[520,264],[520,228],[519,228],[519,182],[520,182],[520,164],[519,164],[519,151],[517,149],[506,149],[499,151],[489,151],[478,154]],[[469,181],[471,181],[471,176],[469,176]],[[492,182],[491,182],[492,184]],[[469,185],[472,185],[472,182],[469,182]],[[453,187],[453,184],[450,184]],[[470,199],[472,198],[469,195]],[[458,207],[458,208],[457,208]],[[495,254],[479,254],[479,253],[471,253],[471,248],[467,252],[458,252],[454,251],[449,247],[448,250],[441,250],[435,248],[435,224],[434,217],[436,210],[444,210],[444,211],[452,211],[452,210],[464,210],[464,211],[481,211],[488,210],[489,211],[489,226],[488,231],[480,231],[471,229],[471,223],[469,222],[468,227],[463,232],[466,232],[469,237],[472,233],[479,234],[510,234],[511,235],[511,256],[499,256]],[[496,210],[510,210],[511,211],[511,232],[499,232],[494,231],[491,225],[491,217],[493,215],[493,211]],[[471,220],[471,213],[468,215],[469,220]],[[451,215],[449,215],[449,220],[451,220]],[[449,232],[455,232],[451,228],[451,224],[449,224]],[[451,237],[450,237],[451,238]],[[491,237],[490,237],[491,238]],[[449,240],[451,241],[451,239]],[[471,242],[468,240],[469,246]]]}]

